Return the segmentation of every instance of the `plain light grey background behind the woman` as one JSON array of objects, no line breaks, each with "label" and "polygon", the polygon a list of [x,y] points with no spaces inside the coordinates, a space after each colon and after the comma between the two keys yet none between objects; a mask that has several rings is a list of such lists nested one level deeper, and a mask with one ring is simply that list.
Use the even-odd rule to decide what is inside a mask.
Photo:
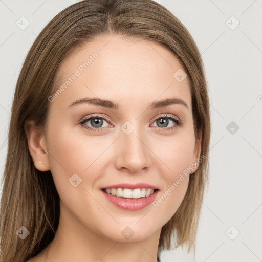
[{"label": "plain light grey background behind the woman", "polygon": [[[0,0],[1,177],[12,97],[21,65],[48,21],[76,2]],[[203,201],[197,261],[262,261],[262,1],[157,2],[177,16],[192,34],[208,81],[212,124],[210,186]],[[24,30],[16,25],[16,21],[22,24],[21,16],[30,22]],[[26,20],[23,21],[25,26]],[[186,249],[161,255],[163,262],[192,261],[192,257]]]}]

